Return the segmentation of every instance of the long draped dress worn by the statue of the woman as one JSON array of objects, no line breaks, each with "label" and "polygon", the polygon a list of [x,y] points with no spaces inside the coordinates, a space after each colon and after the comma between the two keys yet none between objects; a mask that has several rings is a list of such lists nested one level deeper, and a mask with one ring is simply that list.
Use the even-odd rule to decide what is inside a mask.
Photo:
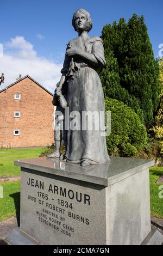
[{"label": "long draped dress worn by the statue of the woman", "polygon": [[[77,42],[77,47],[83,47],[85,52],[94,54],[99,66],[105,66],[101,38],[94,36],[82,41],[79,36],[78,39],[80,42]],[[74,39],[74,42],[70,40],[69,45],[75,47],[78,39]],[[68,76],[67,107],[69,107],[69,113],[72,117],[70,118],[70,130],[67,131],[67,162],[80,163],[86,160],[91,164],[107,163],[110,159],[106,149],[105,136],[101,136],[101,129],[95,129],[98,123],[96,114],[100,115],[101,111],[105,111],[102,83],[95,67],[82,58],[72,59],[66,55],[61,73]],[[74,111],[77,112],[74,113]],[[90,126],[86,126],[86,119],[82,119],[82,113],[83,117],[86,117],[85,113],[88,111],[89,113],[96,113],[92,119],[92,130]],[[72,125],[74,120],[77,120],[76,127]]]}]

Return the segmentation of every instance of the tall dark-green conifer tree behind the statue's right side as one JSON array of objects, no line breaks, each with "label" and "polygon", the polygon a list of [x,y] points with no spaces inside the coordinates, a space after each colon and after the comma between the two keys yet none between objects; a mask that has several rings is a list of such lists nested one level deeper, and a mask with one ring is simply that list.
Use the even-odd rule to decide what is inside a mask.
[{"label": "tall dark-green conifer tree behind the statue's right side", "polygon": [[133,108],[144,123],[153,121],[159,104],[159,65],[143,16],[105,25],[102,31],[106,69],[100,76],[105,95]]}]

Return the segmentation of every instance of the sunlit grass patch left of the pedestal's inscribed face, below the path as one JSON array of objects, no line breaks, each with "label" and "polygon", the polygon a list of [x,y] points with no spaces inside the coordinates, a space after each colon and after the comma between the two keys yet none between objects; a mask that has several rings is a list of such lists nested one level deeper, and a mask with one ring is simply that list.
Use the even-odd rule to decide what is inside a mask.
[{"label": "sunlit grass patch left of the pedestal's inscribed face, below the path", "polygon": [[20,214],[20,181],[1,183],[3,198],[0,198],[0,221]]}]

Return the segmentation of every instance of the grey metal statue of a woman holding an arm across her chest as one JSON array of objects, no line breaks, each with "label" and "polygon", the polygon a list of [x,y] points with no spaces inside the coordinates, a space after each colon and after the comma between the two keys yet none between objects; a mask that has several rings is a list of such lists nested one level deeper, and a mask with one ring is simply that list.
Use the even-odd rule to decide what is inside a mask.
[{"label": "grey metal statue of a woman holding an arm across her chest", "polygon": [[[105,66],[102,39],[88,35],[92,21],[90,14],[84,9],[78,9],[73,14],[72,25],[78,32],[78,38],[67,44],[57,93],[60,94],[62,85],[66,82],[67,107],[70,113],[77,111],[82,117],[83,112],[104,112],[103,88],[96,72],[99,67]],[[95,118],[92,120],[95,124]],[[106,139],[101,136],[101,130],[83,130],[83,120],[80,121],[81,129],[67,131],[66,161],[80,163],[82,166],[109,162]]]}]

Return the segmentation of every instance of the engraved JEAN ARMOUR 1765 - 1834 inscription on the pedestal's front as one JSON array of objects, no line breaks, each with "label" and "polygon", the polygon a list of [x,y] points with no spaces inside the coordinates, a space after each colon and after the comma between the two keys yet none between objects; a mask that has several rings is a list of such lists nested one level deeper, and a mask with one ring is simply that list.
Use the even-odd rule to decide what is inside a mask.
[{"label": "engraved JEAN ARMOUR 1765 - 1834 inscription on the pedestal's front", "polygon": [[91,197],[89,194],[73,190],[71,185],[67,188],[54,182],[49,184],[46,181],[28,178],[26,184],[30,186],[30,194],[27,194],[27,200],[39,205],[35,211],[36,221],[71,237],[75,234],[77,223],[85,227],[90,225],[89,218],[78,212],[77,205],[83,204],[91,209]]}]

